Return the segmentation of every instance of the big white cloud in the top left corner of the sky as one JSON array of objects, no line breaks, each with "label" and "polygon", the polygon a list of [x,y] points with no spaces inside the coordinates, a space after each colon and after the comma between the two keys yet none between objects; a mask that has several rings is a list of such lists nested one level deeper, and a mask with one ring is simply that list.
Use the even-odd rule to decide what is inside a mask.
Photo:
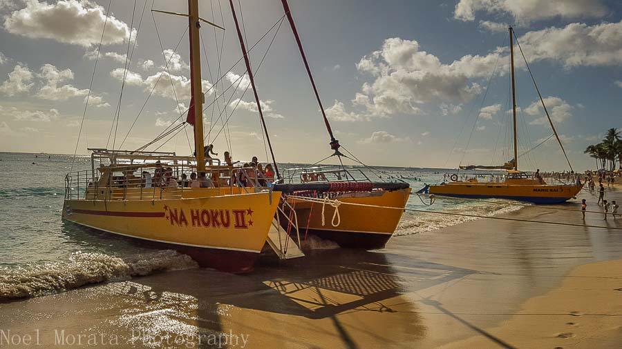
[{"label": "big white cloud in the top left corner of the sky", "polygon": [[[26,1],[26,8],[6,17],[4,28],[32,39],[53,39],[62,43],[91,46],[99,43],[106,11],[93,1],[60,0],[56,3]],[[130,35],[129,26],[108,18],[102,43],[123,43]],[[135,33],[132,35],[135,37]]]}]

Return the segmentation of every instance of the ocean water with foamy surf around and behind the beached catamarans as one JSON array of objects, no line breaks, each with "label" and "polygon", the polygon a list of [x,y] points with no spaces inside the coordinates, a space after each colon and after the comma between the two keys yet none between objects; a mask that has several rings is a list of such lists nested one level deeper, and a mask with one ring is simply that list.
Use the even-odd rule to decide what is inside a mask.
[{"label": "ocean water with foamy surf around and behind the beached catamarans", "polygon": [[[64,154],[0,152],[0,301],[62,292],[89,283],[129,279],[159,270],[196,268],[173,250],[141,248],[129,239],[62,221],[64,176],[71,168]],[[282,164],[281,168],[295,167]],[[73,170],[91,168],[90,157],[76,160]],[[424,183],[439,183],[442,170],[381,168],[408,181],[413,192]],[[511,201],[429,199],[411,195],[406,208],[424,211],[496,215],[516,210]],[[407,211],[395,235],[431,233],[470,217]],[[318,248],[325,245],[317,243]]]}]

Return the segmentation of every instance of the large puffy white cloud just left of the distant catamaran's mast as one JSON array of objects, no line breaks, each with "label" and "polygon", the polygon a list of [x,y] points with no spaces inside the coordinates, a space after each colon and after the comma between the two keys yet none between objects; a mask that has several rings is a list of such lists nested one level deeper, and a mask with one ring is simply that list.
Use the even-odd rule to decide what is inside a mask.
[{"label": "large puffy white cloud just left of the distant catamaran's mast", "polygon": [[[361,59],[360,72],[375,77],[362,90],[380,114],[417,114],[417,104],[436,100],[468,102],[482,90],[471,78],[487,77],[500,53],[466,55],[444,64],[414,40],[390,38],[381,50]],[[501,70],[500,70],[501,71]]]}]

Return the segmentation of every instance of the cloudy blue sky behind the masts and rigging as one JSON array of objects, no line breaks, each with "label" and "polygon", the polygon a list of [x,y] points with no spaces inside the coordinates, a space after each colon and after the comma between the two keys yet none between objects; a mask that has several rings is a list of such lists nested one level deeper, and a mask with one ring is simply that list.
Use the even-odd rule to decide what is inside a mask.
[{"label": "cloudy blue sky behind the masts and rigging", "polygon": [[[108,4],[0,0],[0,150],[73,153]],[[187,22],[153,15],[170,59],[166,71],[150,11],[152,0],[135,2],[133,21],[134,1],[111,4],[112,17],[106,24],[78,146],[82,154],[87,146],[112,146],[109,134],[115,139],[115,130],[115,148],[119,147],[162,72],[122,148],[147,143],[179,117],[178,102],[188,105]],[[278,0],[242,0],[241,6],[249,46],[279,23],[283,14]],[[290,7],[337,139],[366,163],[455,168],[511,159],[508,25],[515,28],[576,168],[593,167],[583,154],[585,147],[596,143],[607,128],[622,127],[619,1],[290,0]],[[186,1],[181,0],[155,1],[153,8],[187,11]],[[241,53],[229,2],[202,0],[200,8],[202,17],[226,28],[224,34],[202,28],[202,52],[207,53],[207,59],[205,54],[202,57],[204,90],[208,90],[218,80],[218,57],[224,75]],[[135,46],[133,41],[128,46],[129,28],[138,32]],[[270,31],[251,52],[254,67],[275,32]],[[111,128],[128,47],[133,54],[119,125]],[[552,132],[525,66],[518,61],[520,52],[516,54],[522,154]],[[204,118],[216,134],[222,123],[214,122],[212,112],[216,119],[220,112],[227,116],[233,112],[214,141],[216,151],[229,149],[230,143],[235,159],[254,154],[265,158],[252,93],[243,95],[243,88],[235,89],[240,81],[244,87],[244,71],[243,62],[238,63],[211,88],[216,93],[207,96],[207,103],[235,83]],[[276,32],[256,75],[276,159],[315,162],[328,156],[328,134],[287,21]],[[241,102],[234,110],[232,102],[237,99]],[[187,132],[191,140],[191,128]],[[188,138],[180,132],[160,150],[188,154]],[[567,168],[554,139],[520,157],[519,166]]]}]

